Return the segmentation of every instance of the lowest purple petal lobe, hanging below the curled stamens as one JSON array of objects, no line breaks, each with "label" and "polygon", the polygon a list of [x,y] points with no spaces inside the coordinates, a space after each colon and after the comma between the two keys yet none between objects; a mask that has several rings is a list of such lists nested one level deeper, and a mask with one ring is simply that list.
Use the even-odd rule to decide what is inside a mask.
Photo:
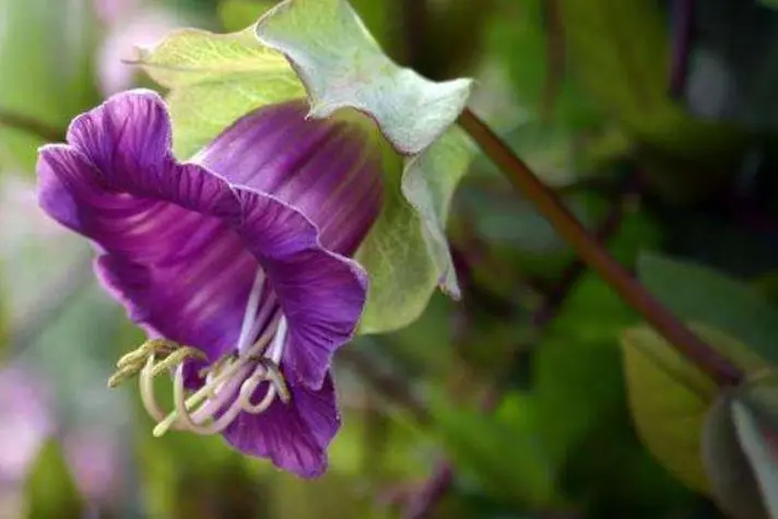
[{"label": "lowest purple petal lobe, hanging below the curled stamens", "polygon": [[[276,399],[262,414],[240,413],[224,437],[241,452],[269,458],[302,477],[317,477],[327,470],[327,448],[341,425],[332,377],[328,374],[318,390],[290,390],[288,404]],[[260,386],[255,400],[266,391]]]}]

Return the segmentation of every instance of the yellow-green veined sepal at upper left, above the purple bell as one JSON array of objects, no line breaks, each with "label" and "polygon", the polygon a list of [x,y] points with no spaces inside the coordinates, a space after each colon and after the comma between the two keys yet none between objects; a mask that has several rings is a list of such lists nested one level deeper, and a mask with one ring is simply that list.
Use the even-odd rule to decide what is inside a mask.
[{"label": "yellow-green veined sepal at upper left, above the purple bell", "polygon": [[189,157],[252,109],[305,96],[283,56],[260,45],[252,28],[231,34],[176,31],[154,48],[140,50],[139,63],[170,90],[167,102],[180,157]]}]

